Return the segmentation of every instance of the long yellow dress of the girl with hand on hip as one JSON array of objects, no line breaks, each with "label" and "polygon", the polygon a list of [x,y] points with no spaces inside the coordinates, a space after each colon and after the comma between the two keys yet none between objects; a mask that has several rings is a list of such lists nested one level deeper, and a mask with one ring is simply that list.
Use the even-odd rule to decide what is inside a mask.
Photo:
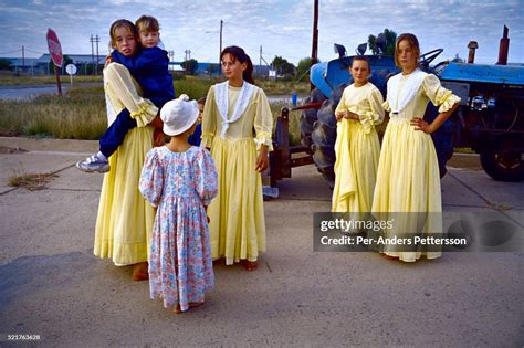
[{"label": "long yellow dress of the girl with hand on hip", "polygon": [[[384,103],[390,112],[391,94],[397,98],[402,88],[407,88],[406,80],[409,75],[397,75],[398,91],[390,93],[391,80],[388,81],[388,96]],[[442,204],[440,193],[439,165],[431,136],[421,130],[415,130],[410,120],[423,117],[428,102],[440,105],[439,113],[448,112],[460,98],[443,88],[440,81],[432,74],[426,74],[415,97],[407,103],[399,114],[390,114],[390,119],[384,135],[380,159],[378,162],[377,184],[375,187],[373,211],[382,219],[397,219],[392,229],[385,230],[385,238],[394,239],[404,235],[407,231],[422,229],[422,238],[442,233]],[[397,212],[419,214],[395,214]],[[394,217],[394,218],[391,218]],[[389,256],[399,257],[405,262],[415,262],[421,255],[427,259],[441,256],[441,250],[425,247],[405,251],[400,247],[387,245],[382,252]]]}]

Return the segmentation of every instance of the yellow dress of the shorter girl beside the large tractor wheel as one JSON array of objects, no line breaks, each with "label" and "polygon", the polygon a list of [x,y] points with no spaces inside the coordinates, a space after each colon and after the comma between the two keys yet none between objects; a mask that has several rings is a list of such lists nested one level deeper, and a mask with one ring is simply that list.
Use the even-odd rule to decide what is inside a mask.
[{"label": "yellow dress of the shorter girl beside the large tractor wheel", "polygon": [[337,123],[335,143],[335,187],[332,211],[366,213],[371,211],[380,144],[375,125],[384,120],[382,95],[375,85],[354,84],[344,89],[335,114],[349,110],[359,120]]}]

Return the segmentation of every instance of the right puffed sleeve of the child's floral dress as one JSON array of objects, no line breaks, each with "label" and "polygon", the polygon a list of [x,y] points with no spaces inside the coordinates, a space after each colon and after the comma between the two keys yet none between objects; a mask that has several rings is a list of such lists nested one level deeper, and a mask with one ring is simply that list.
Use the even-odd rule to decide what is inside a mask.
[{"label": "right puffed sleeve of the child's floral dress", "polygon": [[211,154],[207,149],[200,149],[196,156],[195,182],[198,196],[203,205],[209,205],[218,192],[217,169],[214,168]]}]

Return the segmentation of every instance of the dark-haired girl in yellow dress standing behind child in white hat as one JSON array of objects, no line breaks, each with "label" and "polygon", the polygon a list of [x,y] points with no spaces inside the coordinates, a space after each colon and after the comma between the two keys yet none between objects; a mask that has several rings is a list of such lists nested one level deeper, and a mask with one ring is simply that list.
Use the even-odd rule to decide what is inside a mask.
[{"label": "dark-haired girl in yellow dress standing behind child in white hat", "polygon": [[229,46],[220,59],[228,81],[209,88],[200,145],[211,149],[219,173],[218,196],[208,208],[211,252],[213,260],[254,271],[265,251],[260,173],[269,165],[273,116],[264,92],[253,85],[248,54]]}]

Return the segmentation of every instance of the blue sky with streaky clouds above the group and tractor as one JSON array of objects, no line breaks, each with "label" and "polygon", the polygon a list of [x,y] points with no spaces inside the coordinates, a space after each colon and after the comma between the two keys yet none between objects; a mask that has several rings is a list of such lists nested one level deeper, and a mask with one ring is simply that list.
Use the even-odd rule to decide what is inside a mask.
[{"label": "blue sky with streaky clouds above the group and tractor", "polygon": [[[199,62],[217,63],[220,20],[222,46],[242,46],[258,64],[275,55],[293,64],[311,55],[313,0],[0,0],[0,56],[48,53],[45,33],[53,29],[64,54],[91,54],[91,35],[98,35],[101,54],[108,52],[113,21],[156,17],[166,50],[182,61],[185,51]],[[436,62],[455,54],[468,57],[476,41],[475,63],[497,61],[503,25],[510,28],[510,63],[524,63],[524,0],[378,1],[319,0],[318,57],[337,57],[333,43],[354,54],[369,34],[384,29],[415,33],[421,52],[444,49]],[[367,52],[369,53],[369,51]],[[263,61],[262,61],[263,63]]]}]

